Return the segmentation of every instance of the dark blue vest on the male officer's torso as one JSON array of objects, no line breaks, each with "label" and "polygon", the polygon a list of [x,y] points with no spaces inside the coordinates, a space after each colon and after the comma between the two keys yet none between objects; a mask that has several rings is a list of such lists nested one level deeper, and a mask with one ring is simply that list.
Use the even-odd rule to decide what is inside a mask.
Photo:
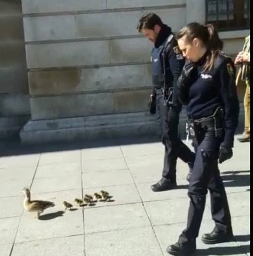
[{"label": "dark blue vest on the male officer's torso", "polygon": [[152,82],[155,88],[161,88],[165,85],[172,86],[172,74],[169,68],[168,56],[169,48],[173,39],[173,34],[170,34],[165,42],[158,48],[153,48],[151,52],[151,69]]}]

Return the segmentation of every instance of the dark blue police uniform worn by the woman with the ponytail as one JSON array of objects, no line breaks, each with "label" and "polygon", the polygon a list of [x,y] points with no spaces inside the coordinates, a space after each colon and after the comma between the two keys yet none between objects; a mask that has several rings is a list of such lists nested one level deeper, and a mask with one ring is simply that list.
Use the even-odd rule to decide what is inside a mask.
[{"label": "dark blue police uniform worn by the woman with the ponytail", "polygon": [[[178,243],[187,250],[196,246],[195,239],[202,222],[207,190],[210,192],[215,229],[212,233],[205,234],[202,241],[226,241],[233,234],[218,159],[223,162],[231,158],[238,125],[239,102],[235,87],[235,67],[232,60],[220,52],[213,69],[203,72],[208,54],[209,52],[205,53],[201,60],[189,68],[191,72],[186,78],[183,78],[182,72],[178,83],[179,98],[187,105],[187,116],[194,130],[196,143],[196,158],[188,189],[191,201],[187,228],[183,230]],[[185,67],[187,69],[187,63]]]}]

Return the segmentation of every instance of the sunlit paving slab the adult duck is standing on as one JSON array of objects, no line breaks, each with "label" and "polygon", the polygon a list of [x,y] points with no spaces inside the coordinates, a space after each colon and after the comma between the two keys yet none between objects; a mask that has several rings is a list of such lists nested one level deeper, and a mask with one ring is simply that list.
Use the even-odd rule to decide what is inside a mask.
[{"label": "sunlit paving slab the adult duck is standing on", "polygon": [[55,207],[46,209],[39,219],[34,218],[36,214],[25,212],[18,228],[17,243],[84,233],[82,209],[75,207],[77,210],[65,211],[62,204],[64,200],[73,203],[75,198],[80,198],[81,189],[37,195],[33,195],[33,191],[31,193],[33,200],[53,201]]}]

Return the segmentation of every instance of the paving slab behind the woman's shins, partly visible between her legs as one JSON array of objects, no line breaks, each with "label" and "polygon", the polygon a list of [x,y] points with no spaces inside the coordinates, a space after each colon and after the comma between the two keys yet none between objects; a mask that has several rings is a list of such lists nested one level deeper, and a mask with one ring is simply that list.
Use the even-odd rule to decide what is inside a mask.
[{"label": "paving slab behind the woman's shins, partly visible between her legs", "polygon": [[[153,226],[180,223],[187,221],[188,198],[177,198],[171,200],[154,201],[144,203],[147,214]],[[209,200],[206,200],[203,219],[210,219]]]}]

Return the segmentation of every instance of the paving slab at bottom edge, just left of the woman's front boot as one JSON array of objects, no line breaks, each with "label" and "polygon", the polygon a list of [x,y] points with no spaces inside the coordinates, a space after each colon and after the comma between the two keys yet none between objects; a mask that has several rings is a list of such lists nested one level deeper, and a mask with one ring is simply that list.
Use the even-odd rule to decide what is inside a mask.
[{"label": "paving slab at bottom edge, just left of the woman's front boot", "polygon": [[151,227],[87,234],[85,242],[86,256],[163,256]]}]

